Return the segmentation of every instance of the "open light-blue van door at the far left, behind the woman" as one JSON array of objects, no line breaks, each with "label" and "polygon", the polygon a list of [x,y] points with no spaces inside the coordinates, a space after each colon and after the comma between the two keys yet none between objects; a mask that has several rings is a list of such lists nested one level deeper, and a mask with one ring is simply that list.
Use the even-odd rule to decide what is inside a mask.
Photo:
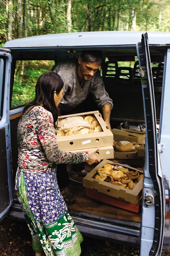
[{"label": "open light-blue van door at the far left, behind the woman", "polygon": [[10,143],[10,50],[0,48],[0,219],[13,202]]}]

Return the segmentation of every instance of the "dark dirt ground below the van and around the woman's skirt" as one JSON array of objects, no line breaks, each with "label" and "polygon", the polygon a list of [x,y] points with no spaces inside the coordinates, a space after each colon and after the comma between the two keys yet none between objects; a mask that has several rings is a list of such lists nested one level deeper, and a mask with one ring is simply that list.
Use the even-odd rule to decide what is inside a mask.
[{"label": "dark dirt ground below the van and around the woman's skirt", "polygon": [[[10,219],[7,215],[0,222],[0,256],[34,256],[31,234],[25,222]],[[139,248],[111,244],[84,237],[81,256],[139,256]],[[170,256],[170,251],[162,251]]]}]

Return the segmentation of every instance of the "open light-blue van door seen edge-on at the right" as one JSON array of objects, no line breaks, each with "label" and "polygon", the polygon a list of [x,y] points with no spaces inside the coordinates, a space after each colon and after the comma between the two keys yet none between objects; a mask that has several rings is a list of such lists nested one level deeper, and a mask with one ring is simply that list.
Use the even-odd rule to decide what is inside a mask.
[{"label": "open light-blue van door seen edge-on at the right", "polygon": [[145,110],[146,142],[140,256],[161,255],[164,236],[165,191],[158,152],[154,89],[148,36],[137,44]]}]

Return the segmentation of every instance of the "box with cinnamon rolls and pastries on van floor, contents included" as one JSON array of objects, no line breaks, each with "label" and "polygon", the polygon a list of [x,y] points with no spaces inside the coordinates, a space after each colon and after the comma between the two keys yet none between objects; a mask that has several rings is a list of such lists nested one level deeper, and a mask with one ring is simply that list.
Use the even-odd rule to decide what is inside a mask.
[{"label": "box with cinnamon rolls and pastries on van floor, contents included", "polygon": [[[101,176],[101,179],[98,179],[100,178],[97,176],[97,175],[100,176],[100,174],[98,174],[99,170],[104,171],[101,168],[105,169],[106,168],[105,165],[108,165],[108,164],[112,166],[112,169],[110,171],[107,170],[108,172],[106,172],[106,174],[104,174],[103,172],[103,177]],[[119,169],[113,170],[113,168],[114,169],[119,168]],[[126,170],[119,172],[120,170],[122,170],[122,168]],[[115,173],[112,173],[112,172],[115,172]],[[118,172],[119,172],[119,175],[118,175]],[[110,175],[112,176],[111,183],[109,181]],[[97,176],[97,179],[95,178],[95,176]],[[124,182],[129,182],[129,183],[120,184],[122,181],[123,183]],[[142,196],[143,170],[141,169],[139,170],[137,168],[127,166],[126,164],[119,164],[117,162],[104,159],[83,178],[83,186],[85,188],[91,188],[94,191],[98,191],[103,194],[107,194],[109,196],[119,198],[126,202],[137,204],[139,202],[139,199]]]}]

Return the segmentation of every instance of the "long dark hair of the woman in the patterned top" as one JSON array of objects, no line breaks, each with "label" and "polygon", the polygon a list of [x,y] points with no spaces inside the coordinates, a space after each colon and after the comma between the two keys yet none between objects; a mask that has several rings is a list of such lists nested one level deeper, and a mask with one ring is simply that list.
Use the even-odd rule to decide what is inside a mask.
[{"label": "long dark hair of the woman in the patterned top", "polygon": [[37,80],[35,86],[35,99],[26,104],[23,109],[23,114],[29,107],[43,105],[45,109],[50,111],[54,119],[54,127],[57,128],[56,122],[59,116],[59,110],[55,105],[54,92],[57,94],[61,91],[64,86],[64,82],[59,74],[48,71],[42,74]]}]

